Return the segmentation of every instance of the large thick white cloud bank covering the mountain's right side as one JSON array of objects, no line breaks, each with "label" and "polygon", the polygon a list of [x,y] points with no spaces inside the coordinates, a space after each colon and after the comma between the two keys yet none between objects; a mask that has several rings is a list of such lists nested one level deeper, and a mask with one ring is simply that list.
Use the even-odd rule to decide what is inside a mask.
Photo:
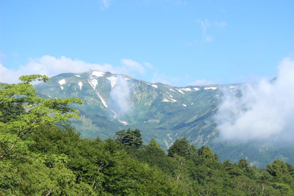
[{"label": "large thick white cloud bank covering the mountain's right side", "polygon": [[283,59],[275,81],[244,84],[240,98],[224,91],[214,119],[220,139],[290,144],[294,136],[294,60]]}]

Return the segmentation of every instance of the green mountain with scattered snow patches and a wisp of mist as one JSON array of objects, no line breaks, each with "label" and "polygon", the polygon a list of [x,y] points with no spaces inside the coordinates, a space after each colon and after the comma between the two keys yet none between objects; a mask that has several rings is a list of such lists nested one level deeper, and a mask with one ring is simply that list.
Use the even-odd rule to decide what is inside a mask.
[{"label": "green mountain with scattered snow patches and a wisp of mist", "polygon": [[[218,131],[213,115],[222,91],[240,96],[240,84],[172,87],[150,83],[123,74],[91,71],[60,74],[47,83],[36,84],[39,95],[48,98],[79,97],[81,113],[74,120],[83,137],[106,139],[122,129],[141,129],[145,142],[154,138],[163,149],[186,137],[196,147],[210,145],[220,160],[247,158],[251,165],[265,166],[275,158],[293,160],[291,149],[259,143],[217,142]],[[232,148],[233,147],[233,148]],[[293,163],[292,163],[293,164]]]}]

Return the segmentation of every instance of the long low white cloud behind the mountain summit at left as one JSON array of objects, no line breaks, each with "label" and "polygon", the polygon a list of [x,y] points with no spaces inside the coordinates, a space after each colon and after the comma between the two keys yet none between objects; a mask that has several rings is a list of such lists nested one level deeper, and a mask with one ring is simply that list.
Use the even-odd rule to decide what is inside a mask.
[{"label": "long low white cloud behind the mountain summit at left", "polygon": [[42,74],[52,77],[61,73],[87,72],[90,69],[117,74],[143,74],[145,72],[145,68],[136,61],[122,59],[121,62],[121,66],[113,67],[111,64],[91,64],[64,56],[56,58],[46,55],[38,59],[29,59],[26,65],[20,66],[16,71],[8,69],[0,63],[0,82],[18,82],[19,76],[27,74]]}]

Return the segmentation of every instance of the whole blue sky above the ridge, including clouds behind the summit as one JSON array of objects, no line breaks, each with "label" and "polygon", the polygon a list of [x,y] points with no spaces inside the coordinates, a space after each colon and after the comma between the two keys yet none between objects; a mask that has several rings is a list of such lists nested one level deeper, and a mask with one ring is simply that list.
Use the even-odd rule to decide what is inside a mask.
[{"label": "whole blue sky above the ridge, including clouds behind the summit", "polygon": [[294,1],[0,0],[0,80],[83,66],[173,86],[271,78],[283,58],[293,57],[293,7]]}]

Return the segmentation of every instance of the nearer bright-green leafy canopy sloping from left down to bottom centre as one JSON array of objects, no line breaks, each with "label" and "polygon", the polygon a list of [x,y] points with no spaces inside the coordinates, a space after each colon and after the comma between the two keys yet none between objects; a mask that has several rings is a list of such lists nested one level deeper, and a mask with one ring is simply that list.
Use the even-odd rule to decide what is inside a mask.
[{"label": "nearer bright-green leafy canopy sloping from left down to bottom centre", "polygon": [[[6,159],[0,195],[184,195],[161,171],[131,159],[113,139],[82,139],[73,127],[42,125],[29,150],[49,159]],[[56,155],[56,158],[53,155]],[[59,160],[59,156],[66,156]]]}]

